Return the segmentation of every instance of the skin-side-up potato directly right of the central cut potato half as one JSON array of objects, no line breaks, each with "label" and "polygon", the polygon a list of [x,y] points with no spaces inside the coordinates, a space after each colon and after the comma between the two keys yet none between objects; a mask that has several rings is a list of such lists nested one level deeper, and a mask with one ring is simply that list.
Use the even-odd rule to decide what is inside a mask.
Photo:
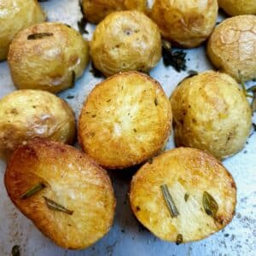
[{"label": "skin-side-up potato directly right of the central cut potato half", "polygon": [[177,146],[200,148],[222,160],[239,152],[252,112],[236,80],[213,71],[185,79],[172,97]]}]

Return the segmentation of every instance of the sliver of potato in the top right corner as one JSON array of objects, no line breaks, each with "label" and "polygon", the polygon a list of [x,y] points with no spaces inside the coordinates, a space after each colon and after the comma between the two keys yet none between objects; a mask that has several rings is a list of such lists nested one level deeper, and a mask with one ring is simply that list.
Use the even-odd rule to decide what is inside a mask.
[{"label": "sliver of potato in the top right corner", "polygon": [[256,15],[255,0],[218,0],[218,6],[230,15]]}]

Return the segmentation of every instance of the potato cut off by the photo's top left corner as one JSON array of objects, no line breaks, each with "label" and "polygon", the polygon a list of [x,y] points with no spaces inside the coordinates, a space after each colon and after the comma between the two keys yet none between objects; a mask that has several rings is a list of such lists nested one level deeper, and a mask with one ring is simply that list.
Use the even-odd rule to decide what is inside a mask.
[{"label": "potato cut off by the photo's top left corner", "polygon": [[7,57],[9,44],[17,32],[45,20],[36,0],[0,1],[0,61]]}]

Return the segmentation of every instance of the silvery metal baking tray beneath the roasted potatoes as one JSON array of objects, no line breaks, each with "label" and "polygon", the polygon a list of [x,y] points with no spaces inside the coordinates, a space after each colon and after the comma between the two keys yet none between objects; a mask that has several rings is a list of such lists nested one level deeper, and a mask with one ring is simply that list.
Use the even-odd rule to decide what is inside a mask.
[{"label": "silvery metal baking tray beneath the roasted potatoes", "polygon": [[[78,29],[77,22],[81,19],[79,0],[49,0],[42,3],[48,20],[60,20]],[[222,16],[218,20],[223,19]],[[90,39],[95,26],[86,26]],[[205,55],[205,46],[185,50],[187,53],[187,71],[177,73],[172,67],[165,67],[162,60],[150,75],[162,84],[167,96],[189,70],[202,72],[212,69]],[[59,96],[73,108],[78,118],[84,99],[90,90],[102,79],[97,79],[87,67],[84,76],[75,87],[62,92]],[[252,83],[248,83],[250,85]],[[15,87],[10,79],[9,67],[0,63],[0,97]],[[255,117],[254,117],[255,122]],[[173,148],[170,137],[167,148]],[[5,163],[0,161],[0,256],[10,255],[14,245],[20,246],[21,256],[57,256],[57,255],[115,255],[115,256],[224,256],[224,255],[256,255],[256,133],[248,138],[246,147],[235,156],[224,160],[224,166],[232,173],[237,184],[237,207],[233,221],[222,231],[203,241],[182,245],[160,241],[144,230],[133,217],[127,200],[127,192],[131,175],[134,170],[109,172],[112,178],[117,208],[113,228],[108,235],[95,245],[81,251],[64,250],[44,237],[11,203],[3,184]]]}]

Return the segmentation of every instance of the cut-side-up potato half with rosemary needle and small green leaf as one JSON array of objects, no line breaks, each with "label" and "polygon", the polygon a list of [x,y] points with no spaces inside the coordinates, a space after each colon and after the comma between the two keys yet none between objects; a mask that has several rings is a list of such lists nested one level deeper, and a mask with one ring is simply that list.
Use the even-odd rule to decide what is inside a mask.
[{"label": "cut-side-up potato half with rosemary needle and small green leaf", "polygon": [[[174,206],[167,207],[167,200]],[[160,239],[198,241],[230,223],[236,183],[210,154],[175,148],[140,168],[131,181],[130,201],[137,219]]]}]

